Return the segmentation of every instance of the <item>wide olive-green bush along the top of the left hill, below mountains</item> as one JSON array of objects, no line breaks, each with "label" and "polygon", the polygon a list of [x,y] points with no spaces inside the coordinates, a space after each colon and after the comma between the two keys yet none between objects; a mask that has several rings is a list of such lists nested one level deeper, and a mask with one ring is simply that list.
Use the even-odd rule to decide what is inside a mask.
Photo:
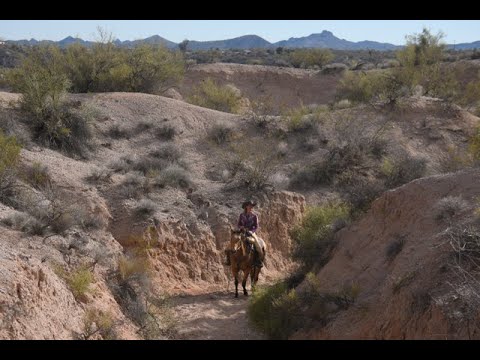
[{"label": "wide olive-green bush along the top of the left hill, below mountains", "polygon": [[184,75],[180,52],[142,44],[122,49],[113,36],[101,33],[90,49],[72,44],[63,59],[64,73],[74,92],[134,91],[162,93]]}]

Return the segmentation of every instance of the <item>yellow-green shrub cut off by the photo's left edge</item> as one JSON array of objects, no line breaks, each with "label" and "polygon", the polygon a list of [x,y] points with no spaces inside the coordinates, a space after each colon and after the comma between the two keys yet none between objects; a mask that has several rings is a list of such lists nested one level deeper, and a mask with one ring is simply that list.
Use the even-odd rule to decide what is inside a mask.
[{"label": "yellow-green shrub cut off by the photo's left edge", "polygon": [[20,150],[16,139],[0,130],[0,201],[6,200],[14,186]]}]

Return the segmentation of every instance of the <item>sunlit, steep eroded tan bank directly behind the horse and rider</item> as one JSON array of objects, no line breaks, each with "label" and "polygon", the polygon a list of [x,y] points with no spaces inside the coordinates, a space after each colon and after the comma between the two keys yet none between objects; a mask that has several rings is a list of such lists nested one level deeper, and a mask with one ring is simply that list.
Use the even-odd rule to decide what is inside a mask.
[{"label": "sunlit, steep eroded tan bank directly behind the horse and rider", "polygon": [[[122,220],[120,228],[112,225],[112,231],[127,233],[124,229],[128,228],[130,234],[148,239],[152,245],[154,282],[162,289],[194,293],[226,288],[230,268],[223,265],[224,250],[230,240],[230,227],[236,225],[240,210],[227,211],[197,194],[192,194],[190,200],[203,207],[207,222],[184,218],[148,225]],[[258,209],[259,236],[268,244],[268,266],[262,272],[263,279],[278,277],[292,265],[288,259],[291,248],[288,229],[301,219],[304,211],[305,198],[300,194],[273,192],[262,200]],[[124,219],[128,218],[133,217]],[[117,239],[122,242],[120,237]]]}]

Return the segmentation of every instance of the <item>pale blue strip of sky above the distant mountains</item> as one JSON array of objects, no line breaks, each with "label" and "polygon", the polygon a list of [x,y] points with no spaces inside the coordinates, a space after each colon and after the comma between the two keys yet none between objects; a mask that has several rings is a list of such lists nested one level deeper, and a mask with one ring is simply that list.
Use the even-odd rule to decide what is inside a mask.
[{"label": "pale blue strip of sky above the distant mountains", "polygon": [[443,31],[448,43],[480,40],[480,20],[0,20],[0,38],[61,40],[69,35],[94,40],[97,26],[120,40],[160,35],[180,42],[256,34],[270,42],[332,31],[350,41],[403,44],[405,35],[427,27]]}]

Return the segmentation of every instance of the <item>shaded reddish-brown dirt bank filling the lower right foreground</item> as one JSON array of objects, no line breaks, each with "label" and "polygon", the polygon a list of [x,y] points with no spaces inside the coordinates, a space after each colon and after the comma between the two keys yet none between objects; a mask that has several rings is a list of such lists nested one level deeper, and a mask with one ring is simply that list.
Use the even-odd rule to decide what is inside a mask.
[{"label": "shaded reddish-brown dirt bank filling the lower right foreground", "polygon": [[[317,276],[325,291],[356,284],[360,294],[327,326],[294,338],[479,338],[475,316],[462,305],[477,303],[478,296],[469,298],[474,295],[465,293],[448,267],[452,248],[445,236],[449,226],[474,216],[479,177],[475,169],[413,181],[385,193],[360,221],[339,231],[335,254]],[[451,224],[437,220],[433,211],[446,196],[461,196],[469,204]],[[399,240],[403,248],[389,259],[387,248]]]}]

